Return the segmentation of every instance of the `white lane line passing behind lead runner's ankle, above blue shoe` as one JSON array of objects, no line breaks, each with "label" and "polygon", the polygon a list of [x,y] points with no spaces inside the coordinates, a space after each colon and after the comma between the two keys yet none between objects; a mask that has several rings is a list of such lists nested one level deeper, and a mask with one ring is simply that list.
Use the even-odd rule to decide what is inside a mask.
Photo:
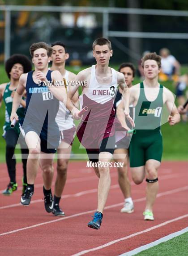
[{"label": "white lane line passing behind lead runner's ankle, above blue shoe", "polygon": [[[184,191],[184,190],[187,190],[187,189],[188,189],[188,186],[187,187],[183,187],[183,188],[169,190],[169,191],[166,191],[166,192],[159,193],[158,197],[162,197],[163,195],[166,195],[168,193],[171,193],[171,194],[172,193],[177,193],[177,192]],[[134,200],[134,202],[142,202],[142,201],[145,201],[145,197],[144,198],[138,198],[138,199]],[[109,205],[109,206],[105,207],[104,209],[110,209],[110,208],[114,208],[114,207],[119,207],[119,206],[121,206],[123,204],[124,203],[121,202],[121,203]],[[50,221],[46,221],[46,222],[39,223],[39,224],[36,224],[36,225],[32,225],[32,226],[29,226],[29,227],[25,227],[25,228],[21,228],[21,229],[12,230],[12,231],[9,231],[9,232],[6,232],[6,233],[2,233],[2,234],[0,234],[0,236],[6,235],[6,234],[12,234],[12,233],[15,233],[15,232],[18,232],[18,231],[22,231],[22,230],[25,230],[25,229],[36,228],[36,227],[41,226],[41,225],[46,225],[46,224],[50,224],[50,223],[53,223],[53,222],[56,222],[56,221],[66,220],[66,219],[69,219],[69,218],[85,215],[85,214],[88,214],[88,213],[93,213],[94,211],[96,211],[96,209],[91,210],[91,211],[80,212],[80,213],[77,213],[77,214],[74,214],[74,215],[71,215],[71,216],[67,216],[67,217],[63,217],[63,218],[60,217],[59,219],[56,219],[56,220],[50,220]]]}]

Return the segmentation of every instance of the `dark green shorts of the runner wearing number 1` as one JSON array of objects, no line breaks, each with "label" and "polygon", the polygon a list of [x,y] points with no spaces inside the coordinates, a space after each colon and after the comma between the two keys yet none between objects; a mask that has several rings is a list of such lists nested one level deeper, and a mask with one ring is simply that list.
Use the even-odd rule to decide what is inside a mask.
[{"label": "dark green shorts of the runner wearing number 1", "polygon": [[161,162],[162,135],[160,131],[144,132],[137,130],[132,135],[129,146],[130,167],[145,166],[145,162],[154,159]]}]

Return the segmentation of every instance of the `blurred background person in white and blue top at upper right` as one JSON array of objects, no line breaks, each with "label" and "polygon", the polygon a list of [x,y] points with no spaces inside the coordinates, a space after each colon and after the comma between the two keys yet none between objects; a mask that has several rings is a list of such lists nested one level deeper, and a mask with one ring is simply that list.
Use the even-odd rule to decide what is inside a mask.
[{"label": "blurred background person in white and blue top at upper right", "polygon": [[180,64],[176,58],[171,55],[169,49],[162,48],[159,51],[161,56],[161,72],[159,74],[159,80],[167,81],[173,80],[178,81]]}]

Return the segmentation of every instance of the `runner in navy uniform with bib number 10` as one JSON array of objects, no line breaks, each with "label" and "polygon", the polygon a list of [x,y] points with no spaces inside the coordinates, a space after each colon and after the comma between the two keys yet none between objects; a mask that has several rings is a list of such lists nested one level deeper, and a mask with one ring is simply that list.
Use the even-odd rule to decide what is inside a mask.
[{"label": "runner in navy uniform with bib number 10", "polygon": [[[66,91],[64,86],[54,86],[62,76],[59,71],[49,71],[48,63],[52,48],[44,42],[30,46],[30,54],[34,63],[34,71],[22,74],[13,100],[10,120],[18,120],[16,111],[22,94],[26,89],[26,116],[22,123],[21,132],[29,148],[27,161],[27,188],[21,196],[21,204],[29,205],[34,193],[34,180],[38,171],[38,164],[43,170],[44,205],[47,212],[53,209],[51,183],[53,179],[53,158],[60,143],[60,132],[55,118],[59,109],[59,100],[54,94],[64,100]],[[53,94],[51,93],[53,91]],[[55,92],[55,93],[54,93]],[[38,161],[38,159],[40,159]]]}]

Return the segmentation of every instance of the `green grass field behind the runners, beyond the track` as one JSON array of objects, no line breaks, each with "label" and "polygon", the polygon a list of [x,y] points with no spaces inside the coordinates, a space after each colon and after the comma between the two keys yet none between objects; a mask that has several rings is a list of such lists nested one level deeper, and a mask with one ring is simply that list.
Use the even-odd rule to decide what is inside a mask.
[{"label": "green grass field behind the runners, beyond the track", "polygon": [[[116,70],[118,69],[117,65],[112,66]],[[73,67],[67,67],[69,71],[79,72],[85,67],[81,67],[75,70]],[[187,70],[186,67],[182,67],[182,74],[184,74]],[[4,65],[0,65],[0,84],[7,82],[8,78],[4,71]],[[139,78],[136,77],[134,84],[139,82]],[[163,82],[162,85],[169,88],[172,92],[174,92],[174,86],[170,81]],[[0,135],[3,133],[2,127],[4,124],[4,103],[0,108]],[[164,160],[187,160],[188,153],[188,124],[180,122],[179,124],[171,127],[166,123],[162,125],[162,135],[163,135],[163,159]],[[76,138],[73,143],[73,153],[85,153],[84,149],[79,149],[79,141]],[[16,151],[18,153],[19,151]],[[0,136],[0,162],[5,162],[5,141]]]}]

